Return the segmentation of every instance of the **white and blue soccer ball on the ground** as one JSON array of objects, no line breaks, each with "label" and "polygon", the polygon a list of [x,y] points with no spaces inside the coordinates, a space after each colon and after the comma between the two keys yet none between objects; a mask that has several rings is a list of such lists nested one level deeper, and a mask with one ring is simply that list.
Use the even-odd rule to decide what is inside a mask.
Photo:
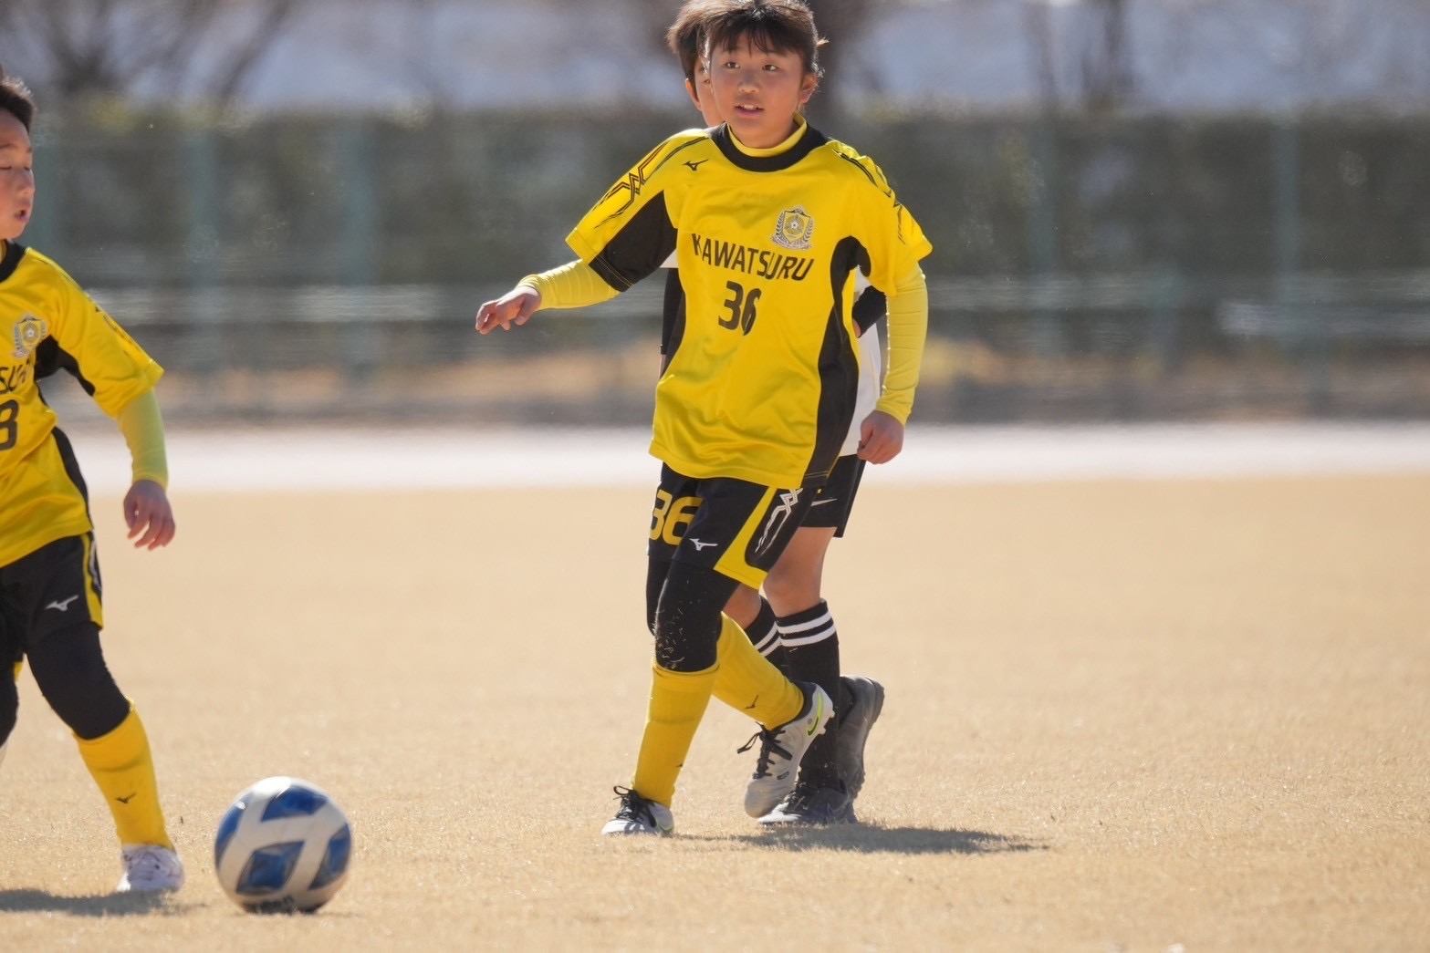
[{"label": "white and blue soccer ball on the ground", "polygon": [[219,822],[213,869],[249,913],[312,913],[347,877],[353,834],[326,792],[296,777],[265,777]]}]

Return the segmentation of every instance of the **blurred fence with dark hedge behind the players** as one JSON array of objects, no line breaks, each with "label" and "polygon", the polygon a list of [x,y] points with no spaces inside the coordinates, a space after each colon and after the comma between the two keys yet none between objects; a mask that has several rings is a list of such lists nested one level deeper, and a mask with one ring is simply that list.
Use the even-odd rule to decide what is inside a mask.
[{"label": "blurred fence with dark hedge behind the players", "polygon": [[[169,369],[170,419],[639,423],[656,281],[470,320],[682,121],[41,126],[26,241]],[[1430,414],[1430,119],[829,131],[935,246],[921,420]]]}]

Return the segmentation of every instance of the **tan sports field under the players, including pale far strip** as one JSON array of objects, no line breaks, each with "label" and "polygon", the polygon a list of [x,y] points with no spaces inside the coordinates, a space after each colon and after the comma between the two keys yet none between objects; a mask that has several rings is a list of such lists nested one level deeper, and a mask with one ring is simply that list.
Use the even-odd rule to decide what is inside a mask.
[{"label": "tan sports field under the players, including pale far strip", "polygon": [[[845,667],[888,689],[864,823],[755,826],[752,729],[712,707],[678,836],[619,842],[598,832],[645,717],[638,444],[582,464],[558,440],[566,466],[523,476],[523,439],[488,440],[483,489],[370,436],[305,457],[302,434],[173,434],[180,534],[134,553],[122,457],[79,434],[106,646],[189,883],[107,896],[107,814],[24,673],[0,949],[1427,950],[1430,430],[1379,456],[1337,433],[1301,456],[1051,433],[998,461],[912,431],[927,467],[868,479],[828,567]],[[343,454],[358,486],[240,489]],[[315,916],[240,913],[213,879],[219,816],[270,774],[355,826]]]}]

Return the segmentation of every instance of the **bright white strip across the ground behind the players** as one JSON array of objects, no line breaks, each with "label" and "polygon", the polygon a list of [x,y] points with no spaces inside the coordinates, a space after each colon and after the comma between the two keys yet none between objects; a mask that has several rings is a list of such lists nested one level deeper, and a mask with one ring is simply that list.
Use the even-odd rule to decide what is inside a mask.
[{"label": "bright white strip across the ground behind the players", "polygon": [[[129,486],[114,430],[70,431],[94,494]],[[173,493],[654,486],[645,430],[267,430],[169,434]],[[868,484],[1430,473],[1430,424],[918,427]]]}]

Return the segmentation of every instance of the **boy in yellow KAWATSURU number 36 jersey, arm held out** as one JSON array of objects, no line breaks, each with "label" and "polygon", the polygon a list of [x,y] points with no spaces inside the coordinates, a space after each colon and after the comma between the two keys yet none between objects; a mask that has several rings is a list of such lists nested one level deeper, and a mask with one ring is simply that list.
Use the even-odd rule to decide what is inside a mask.
[{"label": "boy in yellow KAWATSURU number 36 jersey, arm held out", "polygon": [[[681,763],[714,694],[766,727],[745,810],[769,814],[824,730],[828,694],[791,683],[721,610],[758,589],[828,479],[858,383],[855,271],[889,296],[891,367],[879,409],[912,407],[928,299],[918,224],[872,161],[809,129],[819,39],[798,0],[726,0],[705,20],[726,123],[642,159],[576,226],[579,261],[485,303],[476,329],[539,307],[608,300],[672,253],[685,316],[655,391],[664,461],[651,527],[655,633],[649,713],[631,789],[603,833],[664,833]],[[877,453],[891,434],[875,423]]]}]

